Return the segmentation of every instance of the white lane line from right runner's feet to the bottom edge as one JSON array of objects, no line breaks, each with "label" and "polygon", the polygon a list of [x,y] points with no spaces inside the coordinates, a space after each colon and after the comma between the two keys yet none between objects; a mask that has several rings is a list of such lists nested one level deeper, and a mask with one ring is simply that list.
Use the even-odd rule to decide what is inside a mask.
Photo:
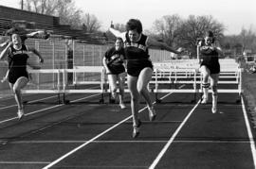
[{"label": "white lane line from right runner's feet to the bottom edge", "polygon": [[184,119],[184,121],[180,124],[179,127],[177,127],[177,129],[175,130],[173,136],[170,138],[170,140],[168,141],[167,144],[165,144],[165,146],[163,147],[163,149],[160,151],[160,153],[157,155],[157,157],[155,158],[155,161],[153,161],[153,163],[150,165],[149,169],[154,169],[156,164],[161,160],[161,158],[163,157],[163,155],[165,154],[165,152],[168,150],[168,148],[170,147],[170,145],[172,143],[174,143],[174,139],[176,137],[176,135],[178,134],[178,132],[181,130],[181,128],[185,125],[185,123],[189,120],[190,116],[192,115],[192,112],[195,110],[195,108],[197,108],[197,106],[199,105],[200,100],[197,102],[197,104],[192,108],[192,110],[190,111],[190,113],[186,116],[186,118]]}]

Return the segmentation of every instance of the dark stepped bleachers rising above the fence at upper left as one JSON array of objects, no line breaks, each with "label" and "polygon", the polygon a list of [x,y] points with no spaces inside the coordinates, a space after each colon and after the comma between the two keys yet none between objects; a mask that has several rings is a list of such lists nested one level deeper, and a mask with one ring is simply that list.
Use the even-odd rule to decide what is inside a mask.
[{"label": "dark stepped bleachers rising above the fence at upper left", "polygon": [[[0,6],[0,11],[3,15],[0,18],[0,35],[3,35],[6,30],[8,30],[11,26],[15,24],[23,24],[27,25],[27,30],[37,31],[37,30],[46,30],[46,32],[51,34],[51,38],[57,39],[73,39],[77,40],[76,42],[89,43],[89,44],[103,44],[106,42],[106,38],[103,34],[90,34],[84,33],[82,29],[73,29],[70,25],[60,25],[60,19],[58,17],[37,14],[34,12],[20,10],[17,8],[6,8]],[[24,15],[24,17],[20,17],[17,15],[9,15],[8,13],[19,12],[20,15]],[[1,14],[2,14],[1,13]],[[28,17],[28,14],[33,14],[33,17]],[[35,16],[38,16],[35,17]],[[52,18],[50,18],[52,17]],[[20,18],[23,18],[22,20]],[[34,20],[34,21],[32,21]],[[42,21],[45,20],[45,21]],[[47,22],[48,21],[48,22]],[[47,23],[47,24],[46,24]]]}]

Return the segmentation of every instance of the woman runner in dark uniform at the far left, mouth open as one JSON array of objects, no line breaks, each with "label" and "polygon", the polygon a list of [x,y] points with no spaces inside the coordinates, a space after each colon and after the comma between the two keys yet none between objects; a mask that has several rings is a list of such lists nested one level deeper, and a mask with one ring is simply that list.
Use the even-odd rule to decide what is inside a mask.
[{"label": "woman runner in dark uniform at the far left, mouth open", "polygon": [[[32,51],[36,55],[40,54],[35,52],[32,48],[27,48],[18,34],[11,36],[11,42],[0,54],[0,60],[8,57],[9,60],[9,86],[14,93],[15,100],[18,106],[18,118],[21,119],[24,115],[24,108],[22,105],[21,89],[23,89],[28,82],[27,74],[27,52]],[[42,58],[40,56],[40,58]],[[39,66],[29,64],[34,69],[39,69]]]}]

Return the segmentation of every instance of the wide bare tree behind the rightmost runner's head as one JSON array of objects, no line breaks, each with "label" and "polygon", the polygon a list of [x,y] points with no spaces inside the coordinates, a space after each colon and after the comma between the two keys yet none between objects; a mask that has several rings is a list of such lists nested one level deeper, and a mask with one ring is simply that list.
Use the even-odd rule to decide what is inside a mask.
[{"label": "wide bare tree behind the rightmost runner's head", "polygon": [[154,33],[151,36],[172,46],[182,46],[196,55],[196,40],[203,38],[207,30],[212,30],[218,41],[222,41],[225,26],[212,18],[212,16],[190,15],[182,19],[177,14],[166,15],[155,20]]}]

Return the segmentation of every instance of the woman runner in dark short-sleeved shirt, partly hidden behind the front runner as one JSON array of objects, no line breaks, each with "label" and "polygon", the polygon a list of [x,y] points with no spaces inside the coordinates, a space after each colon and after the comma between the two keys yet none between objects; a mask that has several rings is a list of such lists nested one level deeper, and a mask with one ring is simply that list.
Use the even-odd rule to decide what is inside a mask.
[{"label": "woman runner in dark short-sleeved shirt, partly hidden behind the front runner", "polygon": [[[126,76],[123,60],[123,42],[121,38],[117,38],[115,46],[111,47],[106,51],[105,57],[103,58],[102,62],[106,70],[113,100],[116,99],[117,91],[119,89],[119,106],[121,109],[126,108],[123,103],[124,84]],[[117,81],[119,81],[119,88]]]}]

